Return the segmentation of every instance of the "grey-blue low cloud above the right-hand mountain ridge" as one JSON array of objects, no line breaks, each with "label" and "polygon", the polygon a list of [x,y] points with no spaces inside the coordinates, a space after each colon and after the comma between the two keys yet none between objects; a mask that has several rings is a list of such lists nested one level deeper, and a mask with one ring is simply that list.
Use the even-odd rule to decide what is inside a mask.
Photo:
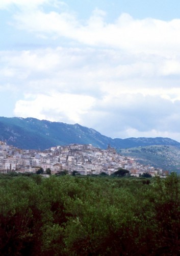
[{"label": "grey-blue low cloud above the right-hand mountain ridge", "polygon": [[122,93],[108,101],[96,102],[86,124],[93,124],[102,134],[111,134],[113,138],[166,135],[179,141],[179,107],[180,100],[172,102],[159,95]]}]

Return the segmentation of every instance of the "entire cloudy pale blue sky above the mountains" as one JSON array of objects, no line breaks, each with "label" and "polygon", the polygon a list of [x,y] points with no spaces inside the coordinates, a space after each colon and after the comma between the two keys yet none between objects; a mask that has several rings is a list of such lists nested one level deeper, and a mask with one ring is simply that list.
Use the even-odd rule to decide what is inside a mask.
[{"label": "entire cloudy pale blue sky above the mountains", "polygon": [[179,0],[1,0],[0,116],[180,142]]}]

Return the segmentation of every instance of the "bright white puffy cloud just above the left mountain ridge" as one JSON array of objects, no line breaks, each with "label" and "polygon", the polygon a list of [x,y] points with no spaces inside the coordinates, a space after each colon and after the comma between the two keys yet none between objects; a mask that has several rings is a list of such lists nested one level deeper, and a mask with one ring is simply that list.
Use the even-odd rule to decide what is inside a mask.
[{"label": "bright white puffy cloud just above the left mountain ridge", "polygon": [[74,94],[28,95],[26,100],[16,102],[14,114],[76,123],[81,122],[81,115],[86,114],[93,103],[93,97]]}]

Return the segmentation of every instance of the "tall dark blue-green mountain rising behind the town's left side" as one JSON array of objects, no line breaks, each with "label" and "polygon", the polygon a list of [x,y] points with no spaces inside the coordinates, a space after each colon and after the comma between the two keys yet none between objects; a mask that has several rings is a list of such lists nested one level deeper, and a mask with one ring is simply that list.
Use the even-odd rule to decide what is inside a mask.
[{"label": "tall dark blue-green mountain rising behind the town's left side", "polygon": [[20,148],[45,150],[51,146],[70,143],[106,148],[112,139],[79,124],[0,117],[0,140]]}]

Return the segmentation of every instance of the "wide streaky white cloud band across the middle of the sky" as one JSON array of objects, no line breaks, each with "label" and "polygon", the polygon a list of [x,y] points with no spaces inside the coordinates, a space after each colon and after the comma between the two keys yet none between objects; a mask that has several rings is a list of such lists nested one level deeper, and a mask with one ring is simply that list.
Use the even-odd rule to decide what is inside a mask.
[{"label": "wide streaky white cloud band across the middle of the sky", "polygon": [[[111,100],[123,94],[180,97],[179,77],[164,72],[167,58],[128,55],[118,50],[56,48],[1,52],[1,81],[15,82],[26,93],[57,90]],[[180,57],[176,57],[176,63]],[[22,84],[22,87],[21,87]]]}]

